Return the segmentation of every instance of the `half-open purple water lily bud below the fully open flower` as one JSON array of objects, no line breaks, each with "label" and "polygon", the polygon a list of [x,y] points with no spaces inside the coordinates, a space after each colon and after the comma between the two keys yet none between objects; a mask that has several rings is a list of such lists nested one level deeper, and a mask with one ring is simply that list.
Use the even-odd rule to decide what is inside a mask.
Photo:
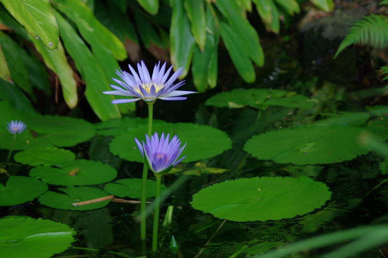
[{"label": "half-open purple water lily bud below the fully open flower", "polygon": [[155,175],[168,173],[171,168],[186,157],[178,159],[186,144],[180,147],[181,142],[178,136],[174,136],[171,141],[169,138],[169,134],[164,137],[164,133],[162,133],[159,139],[158,133],[155,133],[151,139],[146,135],[146,143],[142,141],[142,144],[135,138],[137,147],[145,158],[148,168]]}]

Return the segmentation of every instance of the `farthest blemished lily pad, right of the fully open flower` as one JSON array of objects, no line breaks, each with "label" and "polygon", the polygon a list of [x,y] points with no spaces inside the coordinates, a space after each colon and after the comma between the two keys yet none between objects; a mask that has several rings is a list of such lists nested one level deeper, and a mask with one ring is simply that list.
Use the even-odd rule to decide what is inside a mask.
[{"label": "farthest blemished lily pad, right of the fully open flower", "polygon": [[314,103],[306,96],[296,92],[269,89],[236,89],[221,92],[208,99],[208,106],[242,108],[251,106],[262,110],[268,106],[286,106],[295,108],[311,108]]}]

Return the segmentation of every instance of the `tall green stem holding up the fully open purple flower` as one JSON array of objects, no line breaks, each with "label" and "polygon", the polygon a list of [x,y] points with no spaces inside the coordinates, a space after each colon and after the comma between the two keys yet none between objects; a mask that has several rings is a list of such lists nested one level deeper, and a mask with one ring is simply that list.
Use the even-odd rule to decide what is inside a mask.
[{"label": "tall green stem holding up the fully open purple flower", "polygon": [[[152,118],[153,118],[153,107],[155,102],[147,102],[148,104],[148,132],[147,135],[150,137],[152,134]],[[147,185],[148,167],[146,162],[143,165],[142,175],[142,196],[140,198],[140,238],[146,239],[146,185]]]}]

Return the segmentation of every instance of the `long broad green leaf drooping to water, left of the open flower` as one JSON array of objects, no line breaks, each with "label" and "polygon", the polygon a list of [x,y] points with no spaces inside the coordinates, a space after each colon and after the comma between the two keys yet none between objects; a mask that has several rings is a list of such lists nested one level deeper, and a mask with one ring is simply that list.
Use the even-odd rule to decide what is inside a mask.
[{"label": "long broad green leaf drooping to water, left of the open flower", "polygon": [[118,106],[111,104],[114,97],[102,93],[102,91],[111,90],[111,87],[96,58],[73,27],[58,12],[54,14],[66,50],[75,61],[77,69],[86,82],[85,95],[93,111],[102,121],[121,117]]}]

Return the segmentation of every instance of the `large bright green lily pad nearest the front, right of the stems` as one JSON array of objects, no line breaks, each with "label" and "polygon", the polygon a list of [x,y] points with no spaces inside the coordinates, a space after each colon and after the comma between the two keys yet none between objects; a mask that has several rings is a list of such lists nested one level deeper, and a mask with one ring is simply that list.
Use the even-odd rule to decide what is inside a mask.
[{"label": "large bright green lily pad nearest the front, right of the stems", "polygon": [[196,193],[191,205],[220,219],[267,221],[293,218],[321,208],[329,188],[307,177],[242,178]]}]

